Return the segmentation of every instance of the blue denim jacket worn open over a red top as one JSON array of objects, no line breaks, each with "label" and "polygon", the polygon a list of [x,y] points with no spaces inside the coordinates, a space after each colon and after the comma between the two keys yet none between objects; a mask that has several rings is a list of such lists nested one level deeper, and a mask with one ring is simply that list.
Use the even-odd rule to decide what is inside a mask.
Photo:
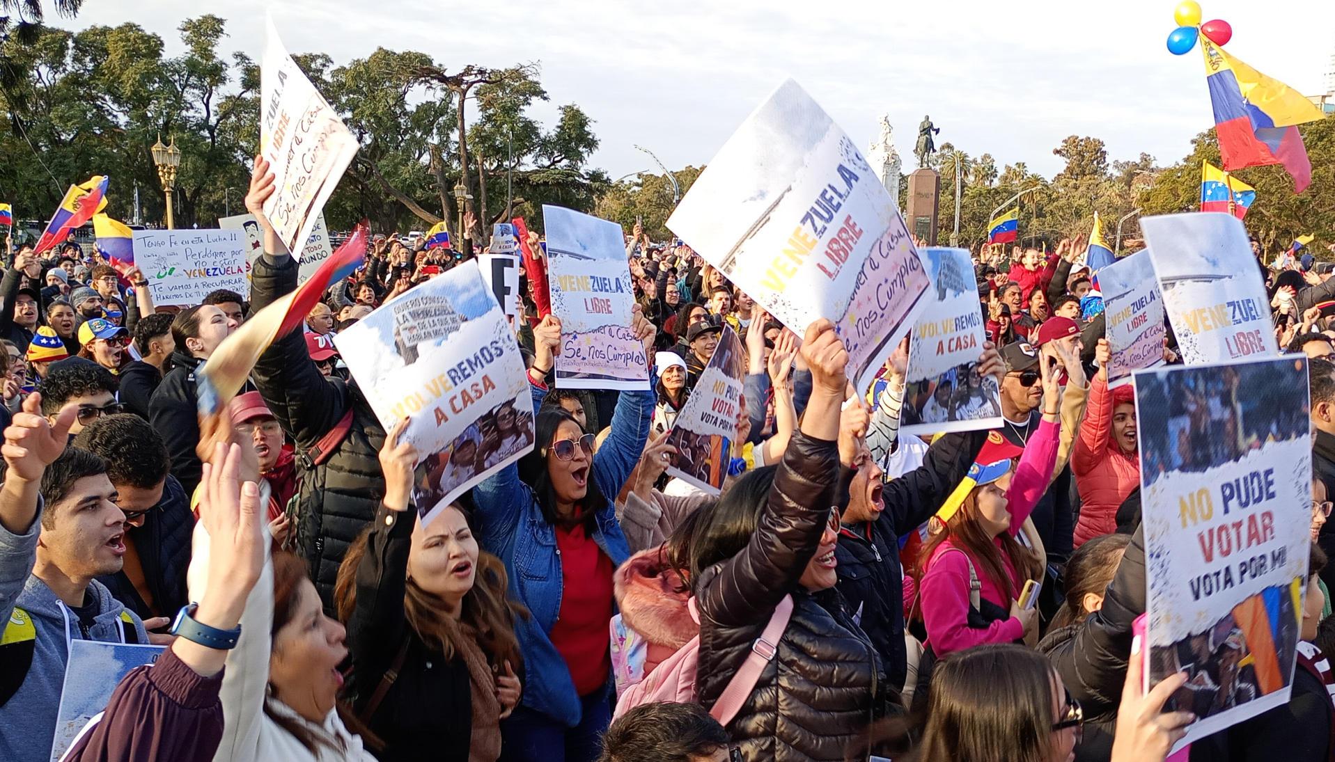
[{"label": "blue denim jacket worn open over a red top", "polygon": [[[545,390],[533,387],[534,415],[545,396]],[[654,402],[650,391],[621,392],[611,416],[611,434],[593,459],[593,478],[607,499],[594,508],[597,531],[593,539],[613,566],[621,566],[630,556],[614,502],[643,451]],[[517,464],[474,487],[473,496],[482,547],[505,562],[510,597],[533,613],[530,619],[521,618],[515,623],[525,667],[523,706],[574,727],[579,723],[579,695],[565,659],[547,637],[561,614],[562,597],[555,528],[543,518],[533,490],[519,479]]]}]

